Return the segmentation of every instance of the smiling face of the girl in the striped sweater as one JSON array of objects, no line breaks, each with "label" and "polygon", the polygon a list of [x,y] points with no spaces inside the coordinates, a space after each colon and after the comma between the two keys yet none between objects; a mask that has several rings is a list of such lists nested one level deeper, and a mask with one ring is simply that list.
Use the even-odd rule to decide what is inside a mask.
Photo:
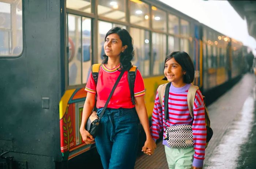
[{"label": "smiling face of the girl in the striped sweater", "polygon": [[174,87],[182,87],[185,85],[183,76],[186,71],[183,71],[181,65],[176,62],[174,58],[171,58],[165,62],[165,69],[163,71],[165,77],[169,82],[172,82]]}]

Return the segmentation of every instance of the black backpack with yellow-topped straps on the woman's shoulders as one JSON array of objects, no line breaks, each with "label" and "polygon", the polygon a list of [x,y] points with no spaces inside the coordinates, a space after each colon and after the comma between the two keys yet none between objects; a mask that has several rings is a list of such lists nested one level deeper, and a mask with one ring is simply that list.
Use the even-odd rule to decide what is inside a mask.
[{"label": "black backpack with yellow-topped straps on the woman's shoulders", "polygon": [[[99,68],[101,67],[101,65],[102,64],[93,64],[91,66],[91,73],[93,74],[93,79],[94,79],[96,86],[97,86],[97,82],[98,82]],[[131,93],[131,101],[132,101],[133,105],[135,105],[134,83],[135,83],[137,69],[138,69],[137,66],[132,65],[132,67],[130,68],[130,70],[128,72],[128,83],[129,83],[129,88],[130,88],[130,93]],[[95,99],[97,100],[96,97],[95,97]]]}]

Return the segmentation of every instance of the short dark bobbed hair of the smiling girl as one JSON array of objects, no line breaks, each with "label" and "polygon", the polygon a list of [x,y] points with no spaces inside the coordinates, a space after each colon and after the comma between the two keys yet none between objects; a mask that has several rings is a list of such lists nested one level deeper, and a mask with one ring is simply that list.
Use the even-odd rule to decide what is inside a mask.
[{"label": "short dark bobbed hair of the smiling girl", "polygon": [[[171,58],[174,58],[175,61],[181,65],[182,71],[186,71],[186,74],[183,76],[183,81],[185,83],[192,83],[195,77],[195,69],[189,55],[184,51],[174,51],[166,56],[165,63]],[[164,77],[162,80],[167,80],[167,78]]]}]

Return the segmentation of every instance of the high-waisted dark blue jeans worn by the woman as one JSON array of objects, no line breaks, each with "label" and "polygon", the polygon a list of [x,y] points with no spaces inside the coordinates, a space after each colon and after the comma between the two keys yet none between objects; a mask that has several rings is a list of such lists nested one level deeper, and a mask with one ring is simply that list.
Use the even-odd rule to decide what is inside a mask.
[{"label": "high-waisted dark blue jeans worn by the woman", "polygon": [[[99,108],[97,114],[103,108]],[[138,150],[139,118],[135,108],[106,108],[95,143],[104,169],[133,169]]]}]

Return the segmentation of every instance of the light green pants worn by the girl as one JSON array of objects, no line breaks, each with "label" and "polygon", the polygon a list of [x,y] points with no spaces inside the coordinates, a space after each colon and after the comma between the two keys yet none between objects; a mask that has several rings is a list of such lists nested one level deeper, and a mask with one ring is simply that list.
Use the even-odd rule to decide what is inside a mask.
[{"label": "light green pants worn by the girl", "polygon": [[165,146],[165,155],[169,169],[191,169],[194,153],[194,147],[173,149]]}]

